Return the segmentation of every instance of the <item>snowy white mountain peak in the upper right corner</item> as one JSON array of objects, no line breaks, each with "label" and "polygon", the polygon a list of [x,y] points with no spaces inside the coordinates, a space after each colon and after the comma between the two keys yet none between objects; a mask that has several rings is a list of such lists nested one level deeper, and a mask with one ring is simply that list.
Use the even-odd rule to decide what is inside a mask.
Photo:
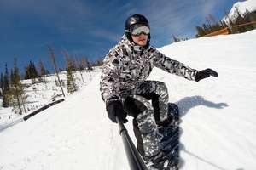
[{"label": "snowy white mountain peak in the upper right corner", "polygon": [[[232,21],[235,21],[238,14],[236,13],[236,10],[239,11],[241,15],[244,15],[248,12],[256,11],[256,0],[247,0],[243,2],[237,2],[233,5],[233,7],[230,9],[229,18]],[[224,17],[224,21],[226,23],[229,23],[229,18]]]}]

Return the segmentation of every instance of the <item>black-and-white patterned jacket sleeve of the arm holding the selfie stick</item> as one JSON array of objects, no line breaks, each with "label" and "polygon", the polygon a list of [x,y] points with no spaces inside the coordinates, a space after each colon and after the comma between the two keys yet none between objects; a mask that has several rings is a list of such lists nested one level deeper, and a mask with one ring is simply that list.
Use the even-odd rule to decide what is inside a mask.
[{"label": "black-and-white patterned jacket sleeve of the arm holding the selfie stick", "polygon": [[110,50],[103,60],[100,90],[102,99],[108,103],[109,100],[119,100],[119,54]]}]

